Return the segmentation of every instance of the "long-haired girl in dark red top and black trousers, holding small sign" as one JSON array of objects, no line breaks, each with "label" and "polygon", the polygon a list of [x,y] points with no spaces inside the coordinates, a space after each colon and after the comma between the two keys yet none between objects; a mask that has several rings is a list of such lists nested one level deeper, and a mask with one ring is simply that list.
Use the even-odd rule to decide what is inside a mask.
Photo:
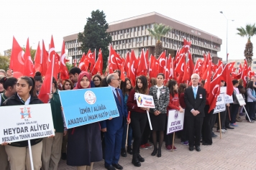
[{"label": "long-haired girl in dark red top and black trousers, holding small sign", "polygon": [[140,142],[147,123],[147,111],[149,108],[137,106],[137,98],[135,97],[135,93],[148,95],[147,78],[144,75],[137,77],[136,86],[130,91],[127,100],[128,110],[131,111],[131,126],[134,136],[132,146],[132,164],[134,164],[134,166],[141,166],[140,162],[144,162],[145,159],[140,156]]}]

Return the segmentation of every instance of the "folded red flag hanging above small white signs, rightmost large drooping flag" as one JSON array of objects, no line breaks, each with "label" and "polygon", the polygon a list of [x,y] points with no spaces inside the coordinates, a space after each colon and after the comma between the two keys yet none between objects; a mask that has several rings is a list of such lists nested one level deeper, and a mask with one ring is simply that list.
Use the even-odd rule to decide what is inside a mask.
[{"label": "folded red flag hanging above small white signs, rightmost large drooping flag", "polygon": [[230,70],[231,70],[231,67],[232,67],[232,63],[229,63],[227,65],[225,65],[223,71],[222,71],[222,79],[221,80],[224,80],[226,83],[227,83],[227,95],[232,95],[233,94],[233,82],[232,82],[232,79],[230,77]]}]

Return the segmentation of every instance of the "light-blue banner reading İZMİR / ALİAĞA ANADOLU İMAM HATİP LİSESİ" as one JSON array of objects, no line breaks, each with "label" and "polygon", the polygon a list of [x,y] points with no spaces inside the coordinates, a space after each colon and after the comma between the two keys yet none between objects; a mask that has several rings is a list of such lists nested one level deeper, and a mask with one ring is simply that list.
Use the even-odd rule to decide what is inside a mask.
[{"label": "light-blue banner reading \u0130ZM\u0130R / AL\u0130A\u011eA ANADOLU \u0130MAM HAT\u0130P L\u0130SES\u0130", "polygon": [[63,90],[59,94],[67,128],[119,116],[110,87]]}]

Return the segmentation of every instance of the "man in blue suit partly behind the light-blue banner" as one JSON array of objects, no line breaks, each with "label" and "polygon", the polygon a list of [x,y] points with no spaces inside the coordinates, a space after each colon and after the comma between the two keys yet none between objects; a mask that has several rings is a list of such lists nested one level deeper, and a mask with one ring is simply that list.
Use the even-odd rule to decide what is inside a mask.
[{"label": "man in blue suit partly behind the light-blue banner", "polygon": [[108,77],[106,77],[106,82],[108,82],[109,87],[114,93],[119,117],[101,121],[101,131],[106,132],[105,167],[108,170],[123,169],[123,167],[118,164],[118,161],[121,154],[124,123],[129,123],[129,121],[127,121],[128,113],[126,106],[124,106],[122,90],[118,89],[120,82],[119,75],[116,73],[108,75]]}]

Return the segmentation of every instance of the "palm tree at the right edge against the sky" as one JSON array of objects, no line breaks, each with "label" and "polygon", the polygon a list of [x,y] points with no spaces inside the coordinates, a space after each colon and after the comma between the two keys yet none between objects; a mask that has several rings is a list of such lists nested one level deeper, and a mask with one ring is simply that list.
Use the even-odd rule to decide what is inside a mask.
[{"label": "palm tree at the right edge against the sky", "polygon": [[252,47],[252,42],[251,42],[251,37],[256,35],[256,27],[255,24],[247,24],[245,26],[245,29],[243,27],[237,28],[237,34],[241,37],[247,37],[248,41],[245,44],[245,49],[244,49],[244,57],[247,60],[248,66],[252,65],[252,56],[253,56],[253,47]]}]

